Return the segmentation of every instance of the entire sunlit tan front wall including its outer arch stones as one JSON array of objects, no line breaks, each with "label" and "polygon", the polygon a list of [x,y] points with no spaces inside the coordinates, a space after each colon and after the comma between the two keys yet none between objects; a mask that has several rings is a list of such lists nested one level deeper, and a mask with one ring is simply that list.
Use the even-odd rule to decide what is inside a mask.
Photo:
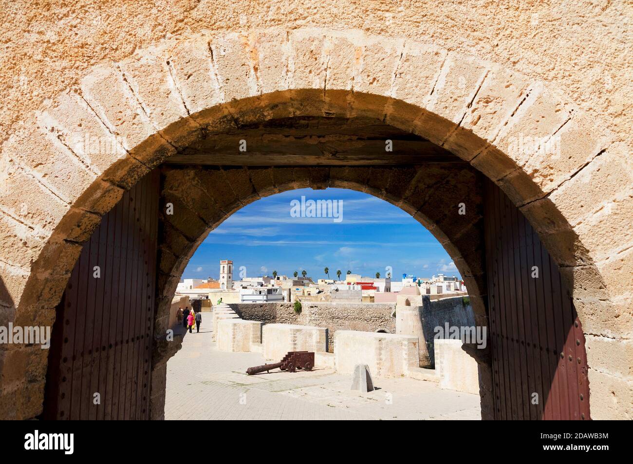
[{"label": "entire sunlit tan front wall including its outer arch stones", "polygon": [[[1,322],[51,325],[82,243],[123,190],[198,130],[270,118],[264,96],[289,90],[291,110],[275,108],[283,117],[368,114],[446,147],[499,185],[572,289],[586,331],[592,417],[631,418],[625,1],[185,0],[161,4],[161,15],[156,3],[108,4],[107,13],[84,1],[47,5],[46,14],[25,1],[4,6]],[[80,142],[114,135],[122,147],[111,152]],[[557,156],[517,145],[555,136]],[[384,194],[384,179],[360,183],[377,181],[371,193]],[[178,279],[192,248],[173,244],[200,239],[182,238],[176,226],[170,233],[176,254],[161,270]],[[463,241],[441,241],[459,255]],[[465,275],[465,259],[455,264]],[[162,283],[159,296],[170,299],[170,278]],[[168,305],[159,319],[163,329]],[[2,417],[41,412],[46,353],[0,347],[0,369]]]}]

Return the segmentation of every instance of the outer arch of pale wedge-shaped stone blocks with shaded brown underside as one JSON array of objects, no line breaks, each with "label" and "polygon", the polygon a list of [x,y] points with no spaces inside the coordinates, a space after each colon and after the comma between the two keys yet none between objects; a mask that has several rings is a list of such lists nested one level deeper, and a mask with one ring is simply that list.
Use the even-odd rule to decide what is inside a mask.
[{"label": "outer arch of pale wedge-shaped stone blocks with shaded brown underside", "polygon": [[[586,333],[596,335],[589,365],[598,396],[629,389],[613,375],[620,367],[601,355],[606,346],[624,350],[629,337],[626,293],[617,284],[630,262],[622,245],[630,241],[622,145],[611,143],[606,131],[577,143],[592,126],[589,116],[568,111],[551,89],[517,73],[427,44],[357,32],[263,31],[164,42],[95,68],[77,89],[45,102],[3,144],[3,319],[51,324],[82,242],[149,169],[187,156],[187,147],[211,135],[318,116],[384,121],[448,149],[497,183],[561,266]],[[83,140],[73,137],[79,127]],[[560,156],[541,156],[539,143],[552,137],[560,137]],[[114,149],[94,152],[92,140]],[[584,198],[601,204],[614,197],[619,200],[608,211],[587,216]],[[23,417],[34,415],[43,388],[37,379],[46,367],[42,353],[8,350],[7,366],[16,370],[4,375],[3,402],[33,379],[29,400],[18,407]],[[616,414],[612,407],[605,403]]]}]

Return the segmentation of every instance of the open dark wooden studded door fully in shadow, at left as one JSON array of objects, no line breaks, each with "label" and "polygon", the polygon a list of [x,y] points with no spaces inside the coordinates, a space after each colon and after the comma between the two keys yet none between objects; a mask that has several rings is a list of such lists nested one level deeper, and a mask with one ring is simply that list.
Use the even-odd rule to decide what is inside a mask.
[{"label": "open dark wooden studded door fully in shadow, at left", "polygon": [[149,418],[159,182],[153,171],[125,192],[84,245],[57,308],[44,418]]}]

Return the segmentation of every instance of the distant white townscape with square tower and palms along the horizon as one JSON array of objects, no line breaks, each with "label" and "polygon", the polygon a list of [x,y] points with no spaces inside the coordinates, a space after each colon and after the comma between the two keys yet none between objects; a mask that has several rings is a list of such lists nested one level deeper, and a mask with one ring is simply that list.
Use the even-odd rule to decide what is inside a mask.
[{"label": "distant white townscape with square tower and palms along the horizon", "polygon": [[[389,275],[380,278],[378,273],[367,277],[351,271],[343,274],[338,270],[333,272],[337,279],[317,279],[315,282],[306,271],[294,272],[291,277],[273,271],[272,276],[234,280],[233,266],[232,260],[220,260],[220,279],[184,279],[177,286],[176,296],[210,300],[212,304],[220,300],[223,303],[396,303],[398,295],[430,295],[432,300],[467,295],[463,281],[444,274],[430,278],[403,274],[401,279],[394,280]],[[206,305],[203,303],[202,306]]]}]

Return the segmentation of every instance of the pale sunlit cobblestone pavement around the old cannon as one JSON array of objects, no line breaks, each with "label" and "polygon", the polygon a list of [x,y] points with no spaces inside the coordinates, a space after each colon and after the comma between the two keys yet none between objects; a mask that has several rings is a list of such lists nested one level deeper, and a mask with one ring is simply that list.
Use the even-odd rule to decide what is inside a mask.
[{"label": "pale sunlit cobblestone pavement around the old cannon", "polygon": [[[210,319],[210,318],[209,318]],[[187,333],[167,363],[165,418],[204,420],[469,419],[479,396],[415,379],[374,379],[371,393],[349,390],[351,376],[332,369],[279,369],[246,375],[264,363],[258,353],[225,353],[211,331]]]}]

